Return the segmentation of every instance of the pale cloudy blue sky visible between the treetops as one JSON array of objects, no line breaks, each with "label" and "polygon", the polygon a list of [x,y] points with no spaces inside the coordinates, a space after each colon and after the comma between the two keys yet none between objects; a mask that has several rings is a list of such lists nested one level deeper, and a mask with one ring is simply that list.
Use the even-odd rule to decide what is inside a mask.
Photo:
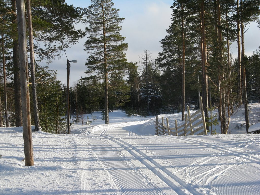
[{"label": "pale cloudy blue sky visible between the treetops", "polygon": [[[73,4],[75,7],[88,7],[90,0],[66,0],[67,4]],[[125,20],[121,24],[120,34],[125,36],[125,42],[128,43],[126,57],[128,62],[140,60],[140,56],[148,49],[152,59],[158,57],[161,52],[160,41],[167,35],[166,29],[171,24],[171,5],[173,0],[113,0],[114,8],[120,9],[119,16]],[[77,24],[76,28],[85,29],[85,24]],[[84,51],[83,44],[87,36],[80,39],[79,43],[72,45],[66,50],[68,59],[77,60],[77,63],[71,63],[70,66],[70,85],[73,86],[80,77],[85,77],[84,65],[88,58],[88,53]],[[250,25],[245,35],[245,53],[250,56],[254,50],[259,47],[259,29],[256,23]],[[237,53],[237,46],[234,42],[231,44],[233,55]],[[49,64],[50,69],[57,70],[57,79],[61,82],[67,82],[67,58],[64,51],[61,59],[54,60]],[[42,64],[44,65],[44,64]]]}]

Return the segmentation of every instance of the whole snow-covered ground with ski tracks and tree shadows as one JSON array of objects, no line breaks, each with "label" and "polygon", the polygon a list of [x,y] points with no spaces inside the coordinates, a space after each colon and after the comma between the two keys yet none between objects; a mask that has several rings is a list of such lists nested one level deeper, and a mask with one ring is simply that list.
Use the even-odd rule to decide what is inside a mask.
[{"label": "whole snow-covered ground with ski tracks and tree shadows", "polygon": [[[33,133],[30,167],[22,128],[0,128],[0,194],[260,194],[260,135],[245,133],[243,113],[228,135],[155,136],[155,117],[114,111],[103,125],[97,112],[70,135]],[[258,123],[260,104],[249,114]],[[163,116],[181,123],[180,113]]]}]

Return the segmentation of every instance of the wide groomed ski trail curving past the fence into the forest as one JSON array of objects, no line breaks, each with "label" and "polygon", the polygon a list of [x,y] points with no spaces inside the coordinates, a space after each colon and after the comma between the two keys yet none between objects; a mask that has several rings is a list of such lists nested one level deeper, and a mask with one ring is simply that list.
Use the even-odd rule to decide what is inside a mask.
[{"label": "wide groomed ski trail curving past the fence into the forest", "polygon": [[[259,146],[258,140],[234,140],[232,146],[226,146],[222,139],[209,143],[209,135],[136,135],[134,129],[142,123],[102,126],[79,135],[77,142],[82,150],[93,153],[93,163],[113,180],[113,189],[101,194],[249,194],[248,187],[255,189],[252,194],[259,194],[259,151],[252,151],[254,145]],[[90,171],[81,174],[87,177]],[[250,177],[246,176],[248,172]],[[252,182],[252,175],[258,181]],[[91,194],[90,184],[81,182],[82,193]]]}]

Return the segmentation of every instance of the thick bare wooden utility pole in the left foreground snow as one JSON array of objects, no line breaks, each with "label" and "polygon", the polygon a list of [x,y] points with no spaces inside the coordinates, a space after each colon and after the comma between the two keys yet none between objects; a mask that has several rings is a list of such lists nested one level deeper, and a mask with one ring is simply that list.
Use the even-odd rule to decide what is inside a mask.
[{"label": "thick bare wooden utility pole in the left foreground snow", "polygon": [[25,5],[24,0],[17,0],[17,23],[18,23],[18,44],[20,59],[20,79],[22,94],[22,113],[23,113],[23,142],[25,166],[33,166],[33,141],[31,133],[31,113],[28,82],[28,63],[27,63],[27,39],[25,25]]}]

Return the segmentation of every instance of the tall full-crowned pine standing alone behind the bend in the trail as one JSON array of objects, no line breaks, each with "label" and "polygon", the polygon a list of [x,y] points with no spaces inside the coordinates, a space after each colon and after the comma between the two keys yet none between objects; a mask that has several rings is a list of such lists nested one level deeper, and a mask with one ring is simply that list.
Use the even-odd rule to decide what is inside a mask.
[{"label": "tall full-crowned pine standing alone behind the bend in the trail", "polygon": [[118,9],[113,8],[111,0],[91,0],[91,5],[84,9],[86,15],[84,22],[88,40],[85,42],[85,50],[91,55],[85,64],[88,70],[86,74],[93,74],[104,82],[104,108],[105,124],[109,124],[108,116],[108,85],[109,75],[112,71],[127,69],[126,54],[128,45],[123,43],[125,37],[119,33],[120,23],[124,18],[118,15]]}]

